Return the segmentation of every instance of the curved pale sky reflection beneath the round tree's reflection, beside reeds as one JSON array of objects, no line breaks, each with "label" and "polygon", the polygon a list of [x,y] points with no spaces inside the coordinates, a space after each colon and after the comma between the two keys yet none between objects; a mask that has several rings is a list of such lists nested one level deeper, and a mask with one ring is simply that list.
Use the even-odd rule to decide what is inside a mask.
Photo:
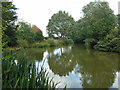
[{"label": "curved pale sky reflection beneath the round tree's reflection, beside reeds", "polygon": [[[43,61],[41,62],[36,62],[36,66],[39,65],[39,69],[40,67],[43,65]],[[57,87],[59,88],[63,88],[65,85],[67,85],[68,88],[82,88],[82,86],[80,86],[82,82],[80,82],[80,77],[81,75],[79,73],[75,73],[74,70],[72,72],[69,72],[68,76],[59,76],[57,74],[54,75],[54,73],[49,69],[49,65],[47,62],[47,59],[44,62],[44,68],[49,72],[49,77],[50,79],[53,78],[53,81],[58,83],[60,82]]]}]

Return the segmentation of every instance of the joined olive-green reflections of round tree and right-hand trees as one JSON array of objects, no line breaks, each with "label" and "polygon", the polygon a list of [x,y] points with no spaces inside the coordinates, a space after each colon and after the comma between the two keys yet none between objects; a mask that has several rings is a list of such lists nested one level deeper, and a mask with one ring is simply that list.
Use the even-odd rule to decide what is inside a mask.
[{"label": "joined olive-green reflections of round tree and right-hand trees", "polygon": [[75,68],[75,73],[82,76],[80,80],[84,88],[109,88],[118,71],[118,54],[98,52],[76,45],[50,52],[48,63],[54,74],[59,76],[69,75]]}]

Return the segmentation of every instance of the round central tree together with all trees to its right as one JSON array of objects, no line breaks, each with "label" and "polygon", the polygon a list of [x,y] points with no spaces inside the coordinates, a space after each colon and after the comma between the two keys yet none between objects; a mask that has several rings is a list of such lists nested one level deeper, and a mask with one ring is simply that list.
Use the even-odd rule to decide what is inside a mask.
[{"label": "round central tree together with all trees to its right", "polygon": [[82,13],[83,17],[76,22],[65,11],[54,14],[47,26],[49,37],[57,35],[97,50],[119,52],[120,15],[114,15],[108,2],[90,2]]}]

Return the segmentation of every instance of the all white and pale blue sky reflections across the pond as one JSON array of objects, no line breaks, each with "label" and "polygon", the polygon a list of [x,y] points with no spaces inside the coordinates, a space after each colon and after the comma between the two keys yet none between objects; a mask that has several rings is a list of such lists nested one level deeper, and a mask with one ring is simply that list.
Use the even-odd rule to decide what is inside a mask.
[{"label": "all white and pale blue sky reflections across the pond", "polygon": [[[71,47],[68,47],[69,50],[71,49]],[[62,53],[65,52],[64,48],[62,49]],[[55,49],[54,50],[54,55],[59,55],[61,56],[61,49]],[[60,82],[57,87],[59,88],[63,88],[65,85],[67,85],[67,88],[82,88],[82,81],[80,80],[80,78],[82,78],[81,74],[77,72],[77,69],[79,70],[80,68],[82,68],[81,66],[79,66],[78,64],[76,64],[76,66],[74,67],[72,72],[69,72],[68,75],[66,76],[59,76],[58,74],[54,74],[54,72],[52,72],[52,70],[50,70],[49,68],[49,64],[48,64],[48,51],[44,52],[43,54],[43,60],[45,60],[44,62],[44,68],[49,72],[49,77],[50,79],[53,78],[53,81],[55,83]],[[41,67],[41,65],[43,64],[43,61],[40,62],[36,62],[36,66],[39,65],[39,69]],[[120,73],[120,72],[119,72]],[[89,82],[89,80],[88,80]],[[110,88],[118,88],[118,72],[116,73],[116,78],[114,80],[113,85]]]}]

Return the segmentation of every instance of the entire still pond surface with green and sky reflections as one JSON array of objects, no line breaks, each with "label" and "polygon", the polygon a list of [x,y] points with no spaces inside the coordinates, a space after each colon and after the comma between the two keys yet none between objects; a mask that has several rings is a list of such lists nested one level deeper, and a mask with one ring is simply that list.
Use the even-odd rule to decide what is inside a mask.
[{"label": "entire still pond surface with green and sky reflections", "polygon": [[[30,61],[42,65],[58,87],[67,88],[118,88],[118,54],[100,52],[71,45],[52,48],[31,48]],[[40,67],[37,67],[40,68]]]}]

